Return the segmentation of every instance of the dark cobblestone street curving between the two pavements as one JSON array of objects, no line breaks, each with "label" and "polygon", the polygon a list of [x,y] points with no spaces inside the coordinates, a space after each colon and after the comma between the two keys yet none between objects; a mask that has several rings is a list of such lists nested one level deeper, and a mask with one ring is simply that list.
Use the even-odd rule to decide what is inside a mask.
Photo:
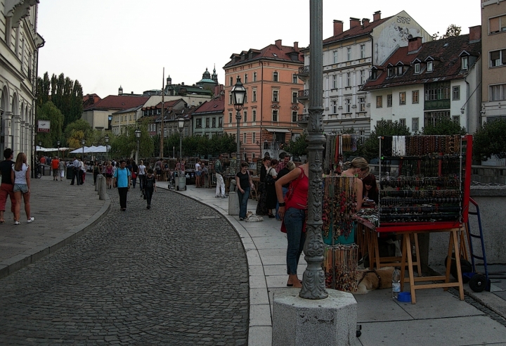
[{"label": "dark cobblestone street curving between the two pavements", "polygon": [[[88,233],[0,279],[0,345],[246,345],[245,250],[211,207],[117,190]],[[62,222],[72,222],[70,219]]]}]

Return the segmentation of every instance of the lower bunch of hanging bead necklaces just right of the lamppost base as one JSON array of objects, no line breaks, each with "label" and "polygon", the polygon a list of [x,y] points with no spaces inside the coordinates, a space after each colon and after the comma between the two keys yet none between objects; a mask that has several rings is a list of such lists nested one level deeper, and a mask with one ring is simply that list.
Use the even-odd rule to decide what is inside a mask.
[{"label": "lower bunch of hanging bead necklaces just right of the lamppost base", "polygon": [[323,260],[325,287],[345,292],[356,292],[358,246],[326,246]]}]

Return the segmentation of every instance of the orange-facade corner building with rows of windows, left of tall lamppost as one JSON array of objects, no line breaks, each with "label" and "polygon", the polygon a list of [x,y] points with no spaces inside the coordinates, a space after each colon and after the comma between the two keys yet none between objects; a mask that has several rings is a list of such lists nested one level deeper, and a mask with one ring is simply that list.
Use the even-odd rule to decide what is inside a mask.
[{"label": "orange-facade corner building with rows of windows, left of tall lamppost", "polygon": [[231,90],[240,77],[246,88],[246,100],[241,110],[240,158],[249,162],[269,153],[278,158],[280,150],[300,136],[302,128],[297,118],[302,105],[297,100],[304,84],[297,74],[304,66],[304,55],[298,43],[283,46],[281,40],[264,49],[249,49],[232,54],[223,66],[225,70],[225,116],[223,131],[237,134],[236,111]]}]

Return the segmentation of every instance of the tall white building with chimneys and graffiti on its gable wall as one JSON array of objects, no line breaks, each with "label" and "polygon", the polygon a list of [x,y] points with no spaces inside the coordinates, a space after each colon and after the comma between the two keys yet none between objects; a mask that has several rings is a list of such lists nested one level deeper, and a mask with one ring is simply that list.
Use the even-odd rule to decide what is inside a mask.
[{"label": "tall white building with chimneys and graffiti on its gable wall", "polygon": [[[334,34],[323,40],[323,129],[339,133],[353,128],[356,134],[370,134],[370,96],[361,87],[369,77],[372,65],[381,65],[398,47],[408,46],[409,35],[431,41],[427,33],[408,13],[401,11],[373,20],[350,18],[349,30],[341,20],[334,20]],[[303,120],[309,116],[309,49],[304,50],[304,67],[299,77],[304,91]],[[307,121],[307,120],[306,120]]]}]

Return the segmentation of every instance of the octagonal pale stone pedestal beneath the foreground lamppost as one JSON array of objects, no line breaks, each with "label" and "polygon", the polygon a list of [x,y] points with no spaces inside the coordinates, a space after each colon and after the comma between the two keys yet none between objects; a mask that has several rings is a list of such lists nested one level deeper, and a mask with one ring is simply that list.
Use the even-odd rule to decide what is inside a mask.
[{"label": "octagonal pale stone pedestal beneath the foreground lamppost", "polygon": [[351,293],[327,289],[326,299],[309,300],[299,291],[274,292],[273,346],[355,344],[357,302]]}]

